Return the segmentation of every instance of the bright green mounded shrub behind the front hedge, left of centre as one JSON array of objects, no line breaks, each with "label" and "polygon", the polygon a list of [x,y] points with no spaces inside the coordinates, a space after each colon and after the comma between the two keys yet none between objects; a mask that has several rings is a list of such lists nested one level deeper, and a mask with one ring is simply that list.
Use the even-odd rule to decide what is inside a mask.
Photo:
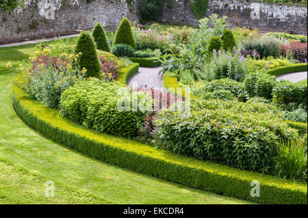
[{"label": "bright green mounded shrub behind the front hedge, left of centre", "polygon": [[[149,111],[132,111],[131,95],[118,95],[120,88],[129,93],[129,88],[118,82],[92,78],[76,83],[62,94],[60,111],[64,117],[100,133],[134,137]],[[117,109],[118,100],[123,97],[130,103],[129,111]],[[138,100],[148,99],[151,102],[148,94],[138,94]]]}]

